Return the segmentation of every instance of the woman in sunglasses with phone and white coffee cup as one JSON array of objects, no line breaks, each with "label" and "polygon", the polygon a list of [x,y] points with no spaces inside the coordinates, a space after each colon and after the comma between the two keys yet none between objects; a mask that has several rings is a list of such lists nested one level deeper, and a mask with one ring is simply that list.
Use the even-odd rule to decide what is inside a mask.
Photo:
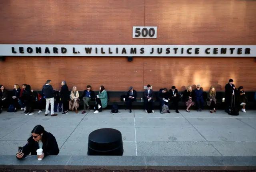
[{"label": "woman in sunglasses with phone and white coffee cup", "polygon": [[60,150],[55,137],[44,130],[44,127],[37,125],[33,128],[28,142],[22,148],[22,152],[17,152],[16,158],[26,158],[27,155],[37,155],[36,150],[42,149],[43,154],[39,158],[44,158],[48,155],[58,155]]}]

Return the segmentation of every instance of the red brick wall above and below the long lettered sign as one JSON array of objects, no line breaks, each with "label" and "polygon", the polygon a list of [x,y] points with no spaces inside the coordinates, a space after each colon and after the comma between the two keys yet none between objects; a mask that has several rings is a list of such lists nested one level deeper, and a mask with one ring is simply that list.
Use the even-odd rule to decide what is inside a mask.
[{"label": "red brick wall above and below the long lettered sign", "polygon": [[[256,45],[256,1],[12,0],[0,1],[0,44]],[[132,26],[158,26],[157,39],[133,39]],[[254,58],[7,57],[0,84],[66,80],[83,90],[153,90],[201,84],[223,90],[228,79],[256,90]]]}]

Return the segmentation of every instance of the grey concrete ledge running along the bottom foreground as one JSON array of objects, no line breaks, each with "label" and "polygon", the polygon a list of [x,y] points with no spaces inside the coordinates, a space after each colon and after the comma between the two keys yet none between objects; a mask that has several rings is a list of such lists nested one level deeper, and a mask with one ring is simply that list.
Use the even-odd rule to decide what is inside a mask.
[{"label": "grey concrete ledge running along the bottom foreground", "polygon": [[0,171],[12,170],[256,170],[256,156],[36,156],[0,155]]}]

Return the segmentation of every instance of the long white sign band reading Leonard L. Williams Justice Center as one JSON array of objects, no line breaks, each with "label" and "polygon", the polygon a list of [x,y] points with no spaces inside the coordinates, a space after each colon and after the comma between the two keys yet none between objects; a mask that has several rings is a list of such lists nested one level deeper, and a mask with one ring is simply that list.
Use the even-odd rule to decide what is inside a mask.
[{"label": "long white sign band reading Leonard L. Williams Justice Center", "polygon": [[256,46],[18,45],[1,44],[0,56],[222,56],[255,57]]}]

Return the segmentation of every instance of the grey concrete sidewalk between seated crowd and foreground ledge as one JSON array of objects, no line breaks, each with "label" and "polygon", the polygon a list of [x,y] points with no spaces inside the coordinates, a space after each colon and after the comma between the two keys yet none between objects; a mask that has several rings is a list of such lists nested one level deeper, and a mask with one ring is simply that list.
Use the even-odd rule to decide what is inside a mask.
[{"label": "grey concrete sidewalk between seated crowd and foreground ledge", "polygon": [[[0,114],[0,154],[15,155],[41,124],[58,142],[59,155],[87,155],[88,135],[98,128],[120,130],[126,156],[256,156],[256,111],[229,116],[180,110],[177,114],[146,114],[143,110],[104,110],[93,114],[25,116],[21,111]],[[37,112],[37,111],[35,111]]]}]

